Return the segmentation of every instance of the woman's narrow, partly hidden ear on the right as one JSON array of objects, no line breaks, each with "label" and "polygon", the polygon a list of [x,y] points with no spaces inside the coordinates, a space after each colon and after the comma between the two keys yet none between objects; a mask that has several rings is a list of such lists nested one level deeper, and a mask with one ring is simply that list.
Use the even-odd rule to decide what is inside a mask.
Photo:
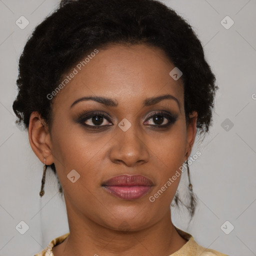
[{"label": "woman's narrow, partly hidden ear on the right", "polygon": [[187,159],[187,156],[190,155],[192,146],[194,143],[195,135],[196,135],[196,121],[197,121],[197,112],[193,111],[189,115],[189,120],[187,123],[187,128],[186,128],[186,155],[185,155],[185,160]]}]

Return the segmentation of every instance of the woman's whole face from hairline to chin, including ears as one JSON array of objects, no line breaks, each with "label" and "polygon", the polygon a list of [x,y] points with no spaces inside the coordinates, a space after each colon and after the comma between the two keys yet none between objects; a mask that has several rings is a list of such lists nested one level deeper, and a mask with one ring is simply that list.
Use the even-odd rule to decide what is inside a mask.
[{"label": "woman's whole face from hairline to chin, including ears", "polygon": [[[30,144],[46,164],[54,162],[69,219],[139,230],[169,212],[180,175],[168,180],[196,132],[196,113],[186,125],[183,84],[169,75],[173,68],[162,50],[145,44],[99,49],[54,97],[51,131],[34,129],[32,136],[31,124]],[[107,100],[81,99],[95,96]],[[33,142],[39,134],[41,148]]]}]

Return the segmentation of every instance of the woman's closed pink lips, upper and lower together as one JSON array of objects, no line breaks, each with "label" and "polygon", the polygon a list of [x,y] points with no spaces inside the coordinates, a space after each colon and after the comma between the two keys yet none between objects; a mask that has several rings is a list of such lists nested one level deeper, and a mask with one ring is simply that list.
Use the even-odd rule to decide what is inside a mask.
[{"label": "woman's closed pink lips, upper and lower together", "polygon": [[101,185],[110,194],[121,199],[134,200],[148,193],[154,184],[151,179],[140,174],[123,174],[107,179]]}]

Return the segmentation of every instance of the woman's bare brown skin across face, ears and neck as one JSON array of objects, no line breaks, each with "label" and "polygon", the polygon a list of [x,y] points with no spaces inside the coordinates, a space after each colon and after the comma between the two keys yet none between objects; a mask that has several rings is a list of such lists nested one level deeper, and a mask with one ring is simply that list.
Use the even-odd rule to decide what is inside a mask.
[{"label": "woman's bare brown skin across face, ears and neck", "polygon": [[[188,158],[196,134],[197,113],[185,122],[183,84],[181,78],[169,75],[173,68],[159,48],[110,45],[99,50],[55,96],[50,131],[37,112],[31,114],[31,148],[42,163],[43,157],[48,165],[54,162],[67,209],[70,234],[53,247],[54,256],[169,255],[186,243],[170,212],[181,175],[154,202],[148,199]],[[162,94],[176,97],[180,108],[173,99],[142,107],[145,98]],[[112,98],[118,106],[88,100],[70,108],[76,99],[89,95]],[[78,123],[88,108],[112,118],[104,118],[100,125],[112,125],[94,131]],[[159,110],[176,114],[176,121],[153,129],[160,122],[148,117]],[[126,131],[118,126],[123,118],[131,123]],[[91,118],[84,122],[95,126]],[[163,117],[160,125],[165,123]],[[80,174],[74,183],[67,178],[72,169]],[[135,173],[154,183],[138,199],[120,199],[101,187],[108,178]]]}]

